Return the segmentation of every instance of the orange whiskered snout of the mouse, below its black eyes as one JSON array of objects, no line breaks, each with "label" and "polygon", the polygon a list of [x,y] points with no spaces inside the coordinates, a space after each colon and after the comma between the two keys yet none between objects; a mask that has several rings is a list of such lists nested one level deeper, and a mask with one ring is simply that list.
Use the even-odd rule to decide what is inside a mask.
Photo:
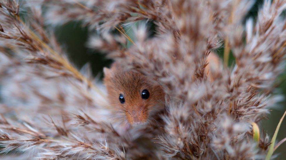
[{"label": "orange whiskered snout of the mouse, below its black eyes", "polygon": [[126,113],[127,120],[132,125],[144,124],[147,121],[148,115],[143,110],[130,110]]}]

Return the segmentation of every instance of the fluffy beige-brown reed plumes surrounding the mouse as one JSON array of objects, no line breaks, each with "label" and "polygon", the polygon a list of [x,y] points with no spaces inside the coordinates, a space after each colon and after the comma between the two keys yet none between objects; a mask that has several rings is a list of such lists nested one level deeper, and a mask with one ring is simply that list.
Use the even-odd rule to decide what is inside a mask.
[{"label": "fluffy beige-brown reed plumes surrounding the mouse", "polygon": [[[265,159],[270,138],[257,124],[281,100],[271,93],[285,68],[286,1],[265,0],[244,23],[253,3],[0,0],[1,157]],[[57,43],[53,27],[70,21],[97,32],[90,48],[159,83],[165,109],[154,123],[114,120],[105,87]],[[206,58],[223,44],[235,65],[219,62],[210,78]]]}]

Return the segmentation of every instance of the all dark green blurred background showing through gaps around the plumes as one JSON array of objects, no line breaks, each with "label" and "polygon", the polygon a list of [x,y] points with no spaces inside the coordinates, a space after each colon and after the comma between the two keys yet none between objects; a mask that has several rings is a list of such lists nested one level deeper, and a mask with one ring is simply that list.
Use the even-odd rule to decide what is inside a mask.
[{"label": "all dark green blurred background showing through gaps around the plumes", "polygon": [[[256,1],[255,5],[249,12],[247,17],[256,18],[259,6],[263,3],[262,0]],[[151,27],[151,30],[154,27]],[[80,22],[71,22],[63,26],[56,27],[55,34],[59,43],[64,47],[64,49],[69,54],[71,62],[78,68],[81,68],[84,64],[89,62],[92,67],[93,75],[99,75],[101,78],[102,69],[104,66],[110,66],[112,60],[107,59],[104,54],[88,49],[86,47],[86,42],[88,41],[88,35],[91,35],[92,31],[89,31],[87,27],[82,27]],[[93,33],[94,34],[94,33]],[[223,48],[218,49],[218,54],[222,57]],[[230,55],[229,65],[234,65],[234,57]],[[279,79],[285,77],[286,72],[283,73]],[[283,94],[286,97],[286,82],[282,84],[275,90],[276,93]],[[286,109],[286,100],[279,103],[278,106],[272,109],[268,119],[264,119],[259,126],[261,130],[265,131],[270,138],[276,129],[276,126],[282,117]],[[280,131],[278,133],[277,140],[280,141],[286,137],[286,120],[282,122]],[[275,153],[279,153],[276,159],[286,159],[286,143],[282,144]]]}]

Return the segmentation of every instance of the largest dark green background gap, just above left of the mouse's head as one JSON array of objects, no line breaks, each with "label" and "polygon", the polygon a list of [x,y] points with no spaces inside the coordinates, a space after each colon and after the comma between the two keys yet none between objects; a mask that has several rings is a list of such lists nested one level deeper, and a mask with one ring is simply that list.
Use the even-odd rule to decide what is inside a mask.
[{"label": "largest dark green background gap, just above left of the mouse's head", "polygon": [[89,38],[88,33],[87,27],[82,27],[80,23],[76,22],[71,22],[55,29],[57,40],[68,53],[71,62],[77,68],[90,63],[93,75],[100,75],[102,78],[103,66],[110,66],[112,60],[107,59],[104,54],[86,47],[86,42]]}]

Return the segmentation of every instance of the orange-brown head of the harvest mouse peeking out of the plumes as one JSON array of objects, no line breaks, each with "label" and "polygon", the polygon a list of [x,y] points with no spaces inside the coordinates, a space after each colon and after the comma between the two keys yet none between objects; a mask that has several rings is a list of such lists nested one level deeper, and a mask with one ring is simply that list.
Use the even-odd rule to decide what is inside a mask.
[{"label": "orange-brown head of the harvest mouse peeking out of the plumes", "polygon": [[160,85],[146,76],[118,67],[104,68],[104,74],[111,107],[131,125],[145,124],[152,114],[164,108]]}]

